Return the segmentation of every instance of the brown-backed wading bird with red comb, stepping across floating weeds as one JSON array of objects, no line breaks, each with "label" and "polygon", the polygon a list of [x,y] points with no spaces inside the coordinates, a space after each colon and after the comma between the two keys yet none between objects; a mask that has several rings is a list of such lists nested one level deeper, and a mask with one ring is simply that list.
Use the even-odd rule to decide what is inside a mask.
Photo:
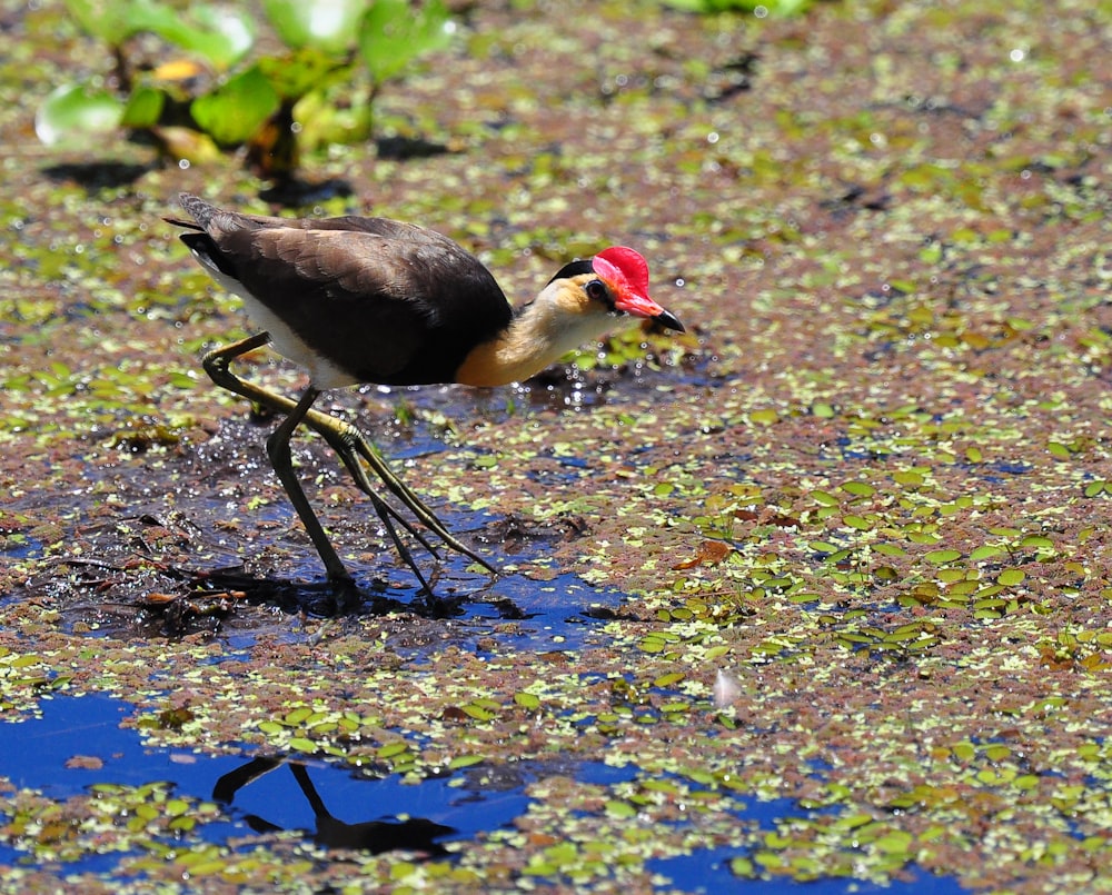
[{"label": "brown-backed wading bird with red comb, stepping across floating weeds", "polygon": [[[425,591],[431,588],[394,523],[434,556],[436,550],[378,494],[364,463],[428,531],[488,571],[496,569],[448,531],[355,426],[312,408],[322,391],[361,384],[492,388],[524,381],[623,320],[652,320],[684,332],[679,318],[649,297],[645,258],[625,246],[565,263],[536,298],[515,308],[478,258],[415,223],[249,215],[185,192],[178,202],[191,220],[165,220],[183,230],[179,238],[192,257],[242,299],[260,327],[209,351],[202,366],[216,385],[286,414],[267,439],[267,454],[339,588],[353,588],[354,578],[294,471],[290,439],[301,424],[344,461]],[[230,370],[237,357],[268,342],[309,374],[296,400]]]}]

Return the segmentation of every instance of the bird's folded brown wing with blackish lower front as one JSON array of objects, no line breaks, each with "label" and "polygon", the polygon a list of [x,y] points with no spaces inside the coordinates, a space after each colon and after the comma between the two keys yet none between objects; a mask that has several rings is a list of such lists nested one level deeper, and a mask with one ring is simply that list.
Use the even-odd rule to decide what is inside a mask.
[{"label": "bird's folded brown wing with blackish lower front", "polygon": [[295,220],[201,205],[200,213],[186,206],[207,237],[186,235],[190,247],[361,381],[454,381],[467,351],[513,316],[481,262],[431,230],[388,218]]}]

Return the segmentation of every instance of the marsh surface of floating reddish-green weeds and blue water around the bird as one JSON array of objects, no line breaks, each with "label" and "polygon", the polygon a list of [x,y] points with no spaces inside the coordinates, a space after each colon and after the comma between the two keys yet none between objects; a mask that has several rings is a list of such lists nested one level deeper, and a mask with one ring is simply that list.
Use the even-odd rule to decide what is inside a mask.
[{"label": "marsh surface of floating reddish-green weeds and blue water around the bird", "polygon": [[200,369],[238,302],[160,221],[268,185],[38,146],[106,60],[2,10],[3,886],[1112,889],[1098,4],[467,13],[296,210],[434,227],[518,300],[633,245],[688,334],[321,400],[502,571],[415,548],[423,597],[300,438],[340,617],[275,420]]}]

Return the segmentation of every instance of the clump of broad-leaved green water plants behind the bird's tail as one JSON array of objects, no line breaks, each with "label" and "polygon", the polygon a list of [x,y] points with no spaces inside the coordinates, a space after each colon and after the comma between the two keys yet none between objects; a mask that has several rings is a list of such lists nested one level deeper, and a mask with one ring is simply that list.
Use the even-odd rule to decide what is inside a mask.
[{"label": "clump of broad-leaved green water plants behind the bird's tail", "polygon": [[[73,20],[112,60],[106,78],[61,84],[39,107],[48,146],[76,146],[121,129],[146,131],[178,157],[248,145],[264,175],[297,168],[302,149],[366,139],[373,100],[455,33],[443,0],[337,0],[327,8],[269,0],[262,10],[282,49],[255,52],[258,24],[242,10],[159,0],[66,0]],[[327,13],[327,14],[325,14]],[[169,58],[152,64],[153,36]],[[183,138],[185,129],[190,137]]]}]

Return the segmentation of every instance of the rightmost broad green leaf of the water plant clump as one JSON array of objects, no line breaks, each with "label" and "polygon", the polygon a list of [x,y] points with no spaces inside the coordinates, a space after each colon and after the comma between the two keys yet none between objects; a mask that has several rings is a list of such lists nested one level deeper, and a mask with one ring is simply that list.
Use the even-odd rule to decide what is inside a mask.
[{"label": "rightmost broad green leaf of the water plant clump", "polygon": [[429,0],[419,12],[409,0],[375,0],[359,29],[359,52],[380,83],[418,57],[447,47],[455,31],[443,0]]}]

